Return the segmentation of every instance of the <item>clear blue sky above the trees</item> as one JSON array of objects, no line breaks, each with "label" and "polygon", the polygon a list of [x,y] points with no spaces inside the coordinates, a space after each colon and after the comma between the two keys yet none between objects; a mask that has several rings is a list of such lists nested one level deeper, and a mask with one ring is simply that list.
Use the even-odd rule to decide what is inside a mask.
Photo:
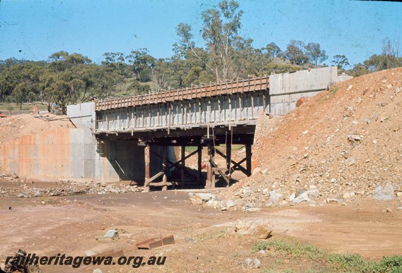
[{"label": "clear blue sky above the trees", "polygon": [[[105,52],[148,48],[170,57],[175,27],[184,22],[194,36],[202,29],[200,13],[218,1],[191,0],[0,0],[0,59],[40,60],[65,50],[95,62]],[[351,64],[381,52],[389,37],[402,46],[402,3],[368,1],[240,0],[241,35],[254,47],[289,40],[320,43],[332,60],[345,54]],[[203,45],[201,38],[197,44]],[[21,52],[20,52],[21,50]]]}]

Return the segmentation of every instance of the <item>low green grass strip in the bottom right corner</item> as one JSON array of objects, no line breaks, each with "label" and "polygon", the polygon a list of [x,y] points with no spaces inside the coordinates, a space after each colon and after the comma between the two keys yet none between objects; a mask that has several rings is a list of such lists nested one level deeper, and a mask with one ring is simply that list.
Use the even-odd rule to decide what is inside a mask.
[{"label": "low green grass strip in the bottom right corner", "polygon": [[[397,273],[402,272],[402,256],[383,257],[379,261],[363,259],[359,254],[335,254],[321,248],[300,243],[291,243],[283,240],[258,241],[252,250],[270,250],[280,252],[292,258],[310,259],[323,262],[331,269],[330,272],[361,272],[361,273]],[[267,272],[269,272],[268,269]],[[315,270],[313,270],[315,271]]]}]

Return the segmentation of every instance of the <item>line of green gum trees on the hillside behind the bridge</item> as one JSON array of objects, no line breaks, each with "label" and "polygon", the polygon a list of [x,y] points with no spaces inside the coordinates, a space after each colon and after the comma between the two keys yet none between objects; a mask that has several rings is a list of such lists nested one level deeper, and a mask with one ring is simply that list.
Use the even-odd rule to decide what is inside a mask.
[{"label": "line of green gum trees on the hillside behind the bridge", "polygon": [[341,54],[327,64],[329,56],[319,43],[291,40],[284,50],[274,42],[254,48],[252,39],[239,35],[242,15],[239,4],[227,0],[202,12],[203,29],[199,34],[204,47],[195,45],[190,25],[179,24],[170,58],[155,58],[142,48],[128,54],[107,52],[102,63],[65,51],[53,53],[43,61],[0,61],[0,102],[50,105],[55,101],[65,113],[67,105],[88,101],[91,96],[104,99],[161,92],[327,65],[353,76],[402,66],[399,45],[389,39],[383,41],[380,54],[351,68]]}]

